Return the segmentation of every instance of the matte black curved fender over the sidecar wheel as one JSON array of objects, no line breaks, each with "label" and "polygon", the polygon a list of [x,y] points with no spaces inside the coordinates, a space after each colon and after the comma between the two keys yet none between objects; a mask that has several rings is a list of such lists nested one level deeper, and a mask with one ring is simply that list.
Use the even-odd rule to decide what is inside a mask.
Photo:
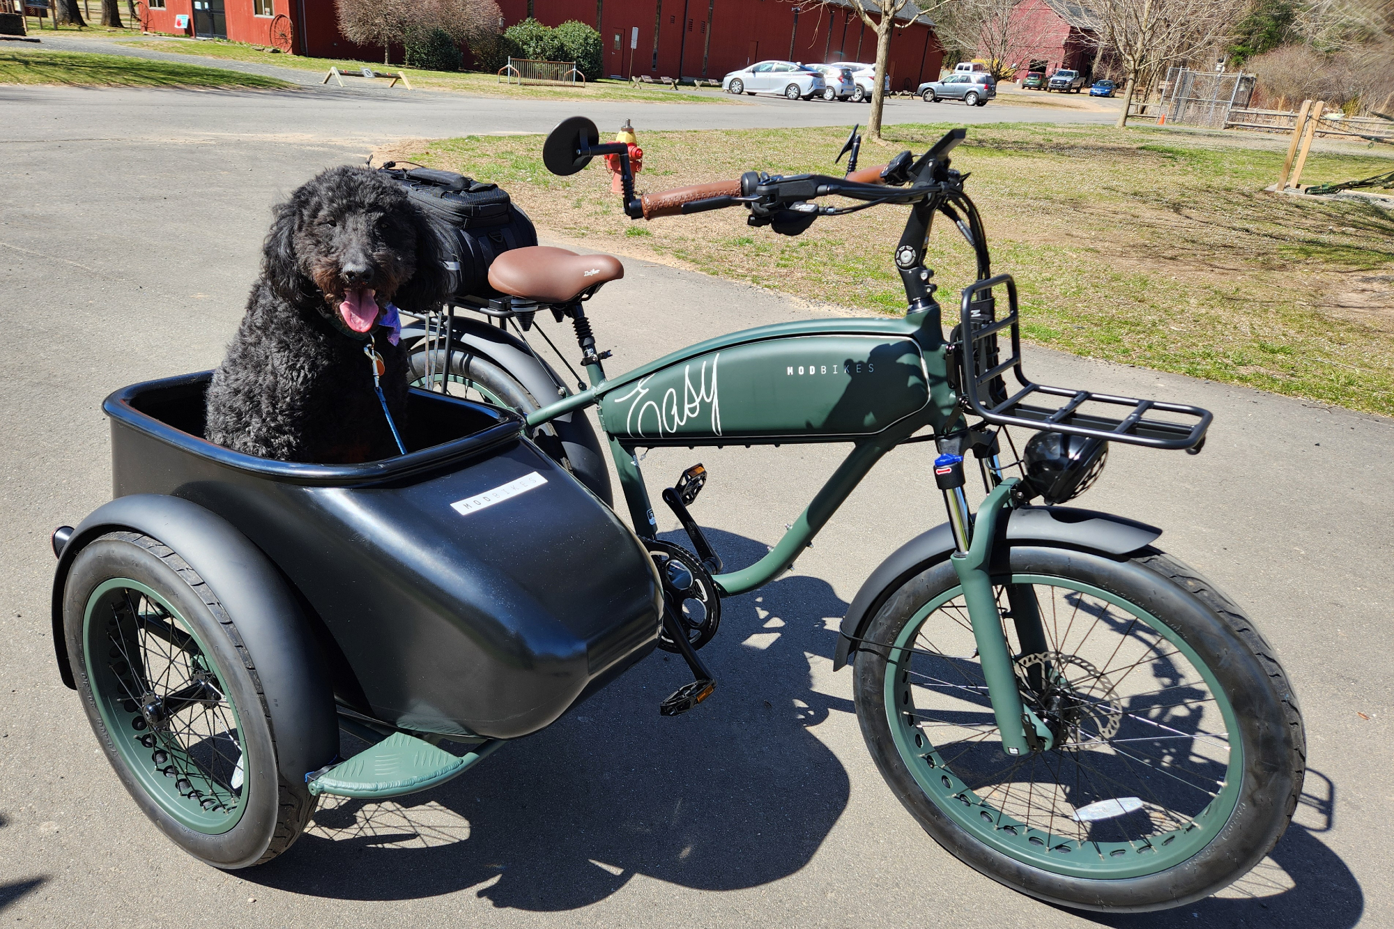
[{"label": "matte black curved fender over the sidecar wheel", "polygon": [[339,720],[323,656],[276,565],[231,523],[198,504],[160,494],[118,497],[72,531],[53,577],[53,649],[63,683],[77,689],[63,636],[63,590],[78,552],[110,531],[137,531],[178,552],[237,625],[261,678],[282,774],[305,771],[339,752]]}]

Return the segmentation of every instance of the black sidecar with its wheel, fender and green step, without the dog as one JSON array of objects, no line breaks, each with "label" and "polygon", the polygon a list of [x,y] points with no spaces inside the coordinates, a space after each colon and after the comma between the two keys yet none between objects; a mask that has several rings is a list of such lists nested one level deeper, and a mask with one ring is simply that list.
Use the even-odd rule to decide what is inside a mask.
[{"label": "black sidecar with its wheel, fender and green step, without the dog", "polygon": [[652,650],[650,555],[512,413],[413,389],[407,455],[297,464],[202,439],[208,379],[106,399],[116,499],[53,540],[64,683],[185,849],[265,861],[312,795],[439,784]]}]

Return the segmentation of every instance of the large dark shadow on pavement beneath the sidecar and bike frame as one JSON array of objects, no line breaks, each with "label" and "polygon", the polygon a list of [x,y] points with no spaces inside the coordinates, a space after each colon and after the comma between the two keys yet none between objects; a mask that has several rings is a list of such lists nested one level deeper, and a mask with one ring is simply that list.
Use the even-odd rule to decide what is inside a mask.
[{"label": "large dark shadow on pavement beneath the sidecar and bike frame", "polygon": [[[728,564],[765,552],[729,533],[710,538]],[[726,600],[703,650],[719,686],[693,711],[658,716],[691,675],[655,651],[441,788],[399,802],[322,799],[296,848],[238,876],[353,900],[484,884],[496,907],[531,911],[597,902],[636,873],[703,890],[779,880],[809,863],[848,803],[846,771],[807,728],[852,703],[813,692],[804,657],[831,657],[824,618],[843,612],[827,582],[804,576]]]}]

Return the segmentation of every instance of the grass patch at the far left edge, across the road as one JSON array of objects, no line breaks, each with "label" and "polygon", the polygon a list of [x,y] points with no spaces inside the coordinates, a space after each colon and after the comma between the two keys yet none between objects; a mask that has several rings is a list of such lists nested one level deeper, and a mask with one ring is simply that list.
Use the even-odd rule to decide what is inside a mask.
[{"label": "grass patch at the far left edge, across the road", "polygon": [[77,84],[88,86],[216,86],[277,89],[286,81],[197,64],[146,61],[86,52],[0,50],[0,84]]}]

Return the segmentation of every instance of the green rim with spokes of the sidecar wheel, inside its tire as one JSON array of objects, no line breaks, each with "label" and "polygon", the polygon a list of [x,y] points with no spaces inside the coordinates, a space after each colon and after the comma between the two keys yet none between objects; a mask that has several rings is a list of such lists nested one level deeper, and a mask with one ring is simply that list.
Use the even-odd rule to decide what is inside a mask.
[{"label": "green rim with spokes of the sidecar wheel, inside its tire", "polygon": [[146,584],[113,577],[88,597],[82,646],[98,713],[146,795],[194,831],[236,826],[251,766],[227,677],[192,624]]}]

